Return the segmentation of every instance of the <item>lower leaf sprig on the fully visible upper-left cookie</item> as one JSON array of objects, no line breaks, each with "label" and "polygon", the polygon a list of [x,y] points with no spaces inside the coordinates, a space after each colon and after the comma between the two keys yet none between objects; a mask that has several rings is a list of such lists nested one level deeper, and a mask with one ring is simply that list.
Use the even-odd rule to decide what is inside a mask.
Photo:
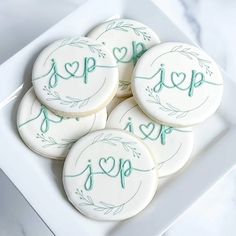
[{"label": "lower leaf sprig on the fully visible upper-left cookie", "polygon": [[73,98],[70,96],[66,96],[65,98],[62,98],[58,92],[51,91],[46,85],[44,86],[43,90],[47,93],[49,98],[47,98],[47,101],[59,101],[62,105],[68,105],[70,107],[78,107],[81,108],[83,106],[86,106],[89,102],[90,97],[85,99],[79,99],[79,98]]}]

